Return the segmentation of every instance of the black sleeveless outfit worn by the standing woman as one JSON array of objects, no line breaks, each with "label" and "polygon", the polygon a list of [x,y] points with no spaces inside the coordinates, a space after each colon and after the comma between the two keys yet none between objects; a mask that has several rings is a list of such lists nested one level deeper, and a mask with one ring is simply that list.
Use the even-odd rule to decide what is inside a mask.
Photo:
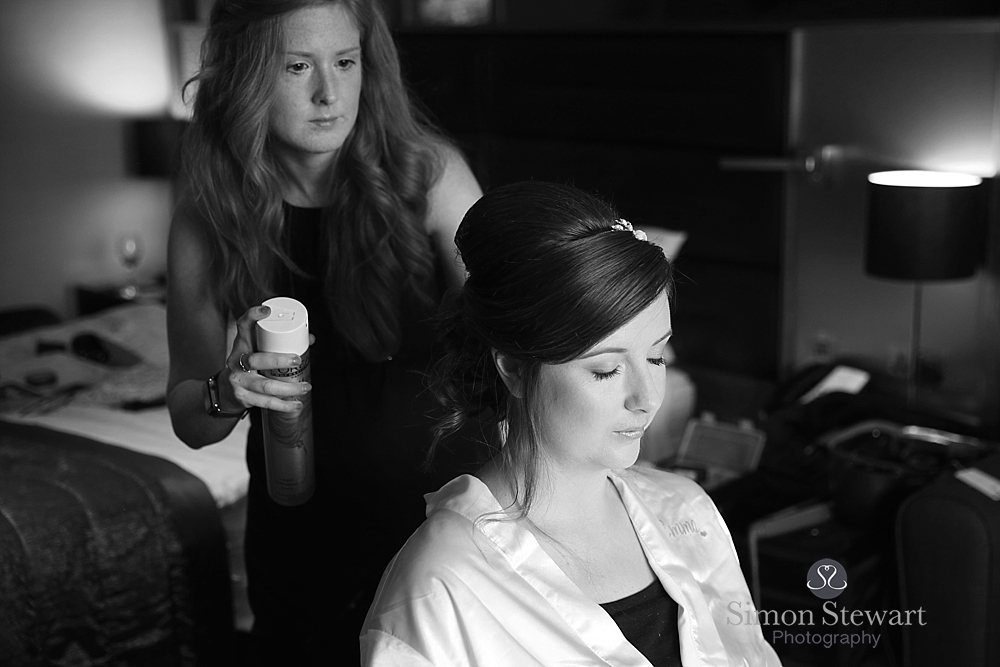
[{"label": "black sleeveless outfit worn by the standing woman", "polygon": [[[340,335],[324,296],[322,209],[285,205],[287,251],[307,275],[284,272],[280,296],[309,312],[316,492],[283,507],[267,493],[259,411],[251,411],[246,563],[255,622],[330,639],[358,631],[389,560],[422,523],[423,495],[478,465],[457,457],[422,469],[439,407],[425,386],[434,341],[434,306],[404,310],[401,348],[365,360]],[[443,291],[443,290],[439,290]],[[463,457],[468,458],[463,458]]]}]

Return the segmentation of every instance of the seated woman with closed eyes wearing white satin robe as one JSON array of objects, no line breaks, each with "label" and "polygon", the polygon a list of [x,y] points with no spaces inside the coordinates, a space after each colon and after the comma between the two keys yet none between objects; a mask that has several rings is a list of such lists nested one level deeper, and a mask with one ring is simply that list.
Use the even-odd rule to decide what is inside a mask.
[{"label": "seated woman with closed eyes wearing white satin robe", "polygon": [[[671,265],[569,186],[486,194],[455,237],[439,438],[470,418],[493,457],[427,496],[382,578],[365,665],[778,665],[705,492],[638,466],[665,391]],[[439,442],[442,440],[439,439]]]}]

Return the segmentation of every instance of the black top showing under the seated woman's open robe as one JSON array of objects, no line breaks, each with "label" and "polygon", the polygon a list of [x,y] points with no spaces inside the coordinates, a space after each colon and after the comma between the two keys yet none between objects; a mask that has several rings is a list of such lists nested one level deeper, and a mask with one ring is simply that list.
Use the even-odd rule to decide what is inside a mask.
[{"label": "black top showing under the seated woman's open robe", "polygon": [[625,639],[646,656],[653,667],[680,667],[677,603],[659,579],[621,600],[601,605],[618,624]]}]

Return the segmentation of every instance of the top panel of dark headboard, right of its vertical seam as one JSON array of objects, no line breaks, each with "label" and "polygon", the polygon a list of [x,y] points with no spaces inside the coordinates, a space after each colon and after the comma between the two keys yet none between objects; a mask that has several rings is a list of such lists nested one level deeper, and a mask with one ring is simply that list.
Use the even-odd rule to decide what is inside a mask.
[{"label": "top panel of dark headboard, right of its vertical seam", "polygon": [[[544,136],[767,150],[781,145],[784,41],[705,35],[508,40],[497,127]],[[544,63],[540,66],[539,63]],[[775,95],[775,93],[778,95]]]}]

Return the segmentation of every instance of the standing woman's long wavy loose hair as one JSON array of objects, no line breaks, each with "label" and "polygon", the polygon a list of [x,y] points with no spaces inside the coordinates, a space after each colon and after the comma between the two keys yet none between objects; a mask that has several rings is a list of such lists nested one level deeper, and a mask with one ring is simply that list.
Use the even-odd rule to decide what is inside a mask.
[{"label": "standing woman's long wavy loose hair", "polygon": [[202,44],[194,114],[182,152],[181,210],[212,242],[221,307],[239,316],[274,294],[278,269],[301,275],[281,239],[282,171],[269,113],[284,51],[283,19],[339,4],[361,36],[355,127],[341,147],[324,210],[333,322],[365,358],[398,349],[407,300],[430,302],[434,253],[427,192],[446,141],[410,100],[378,0],[217,0]]}]

